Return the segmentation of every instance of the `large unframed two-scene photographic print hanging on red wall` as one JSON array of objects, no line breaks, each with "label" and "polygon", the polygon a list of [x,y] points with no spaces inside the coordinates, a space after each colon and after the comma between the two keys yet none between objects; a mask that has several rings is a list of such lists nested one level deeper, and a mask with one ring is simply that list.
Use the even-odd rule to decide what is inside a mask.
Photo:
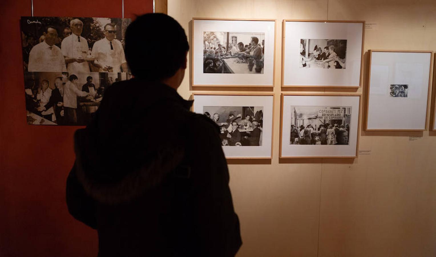
[{"label": "large unframed two-scene photographic print hanging on red wall", "polygon": [[130,19],[21,17],[27,123],[86,125],[105,89],[131,77],[124,55]]}]

